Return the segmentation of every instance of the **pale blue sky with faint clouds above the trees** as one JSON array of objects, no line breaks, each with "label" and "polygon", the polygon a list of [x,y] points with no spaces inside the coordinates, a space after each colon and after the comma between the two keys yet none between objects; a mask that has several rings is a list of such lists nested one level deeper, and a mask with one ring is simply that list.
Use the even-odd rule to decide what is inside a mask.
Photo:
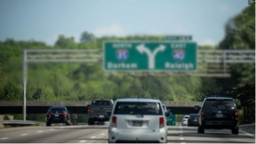
[{"label": "pale blue sky with faint clouds above the trees", "polygon": [[191,35],[198,45],[216,45],[225,25],[247,0],[0,0],[0,41],[54,45],[60,34],[79,42],[95,37]]}]

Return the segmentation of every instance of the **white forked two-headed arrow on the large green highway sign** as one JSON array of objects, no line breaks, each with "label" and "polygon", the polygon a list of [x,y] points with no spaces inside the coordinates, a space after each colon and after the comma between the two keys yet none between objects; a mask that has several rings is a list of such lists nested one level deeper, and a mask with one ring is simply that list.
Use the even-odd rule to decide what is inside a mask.
[{"label": "white forked two-headed arrow on the large green highway sign", "polygon": [[154,69],[155,68],[155,56],[159,51],[164,51],[165,46],[164,45],[159,45],[153,53],[148,49],[148,47],[145,46],[145,44],[140,44],[136,47],[136,49],[143,54],[144,52],[148,55],[148,68],[149,69]]}]

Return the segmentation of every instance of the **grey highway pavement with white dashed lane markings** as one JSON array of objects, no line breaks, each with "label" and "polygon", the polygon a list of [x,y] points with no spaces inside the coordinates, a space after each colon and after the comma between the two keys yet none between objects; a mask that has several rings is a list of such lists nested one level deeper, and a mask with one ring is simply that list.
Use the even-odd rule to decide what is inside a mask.
[{"label": "grey highway pavement with white dashed lane markings", "polygon": [[[255,143],[255,135],[230,130],[205,130],[197,127],[168,126],[167,143]],[[108,143],[107,125],[26,126],[0,129],[0,143]]]}]

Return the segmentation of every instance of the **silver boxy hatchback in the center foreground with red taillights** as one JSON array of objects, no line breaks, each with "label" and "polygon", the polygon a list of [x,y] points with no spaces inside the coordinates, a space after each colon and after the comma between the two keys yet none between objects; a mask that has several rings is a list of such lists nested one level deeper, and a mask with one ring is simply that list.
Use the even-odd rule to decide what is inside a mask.
[{"label": "silver boxy hatchback in the center foreground with red taillights", "polygon": [[108,127],[109,143],[166,143],[162,102],[156,99],[117,99]]}]

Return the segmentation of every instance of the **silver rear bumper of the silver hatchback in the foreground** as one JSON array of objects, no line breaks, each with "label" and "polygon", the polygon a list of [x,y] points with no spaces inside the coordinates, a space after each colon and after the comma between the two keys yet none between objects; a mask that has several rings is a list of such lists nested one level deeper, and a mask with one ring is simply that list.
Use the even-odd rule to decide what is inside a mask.
[{"label": "silver rear bumper of the silver hatchback in the foreground", "polygon": [[159,132],[118,132],[109,129],[108,140],[110,143],[166,143],[167,129],[160,129]]}]

